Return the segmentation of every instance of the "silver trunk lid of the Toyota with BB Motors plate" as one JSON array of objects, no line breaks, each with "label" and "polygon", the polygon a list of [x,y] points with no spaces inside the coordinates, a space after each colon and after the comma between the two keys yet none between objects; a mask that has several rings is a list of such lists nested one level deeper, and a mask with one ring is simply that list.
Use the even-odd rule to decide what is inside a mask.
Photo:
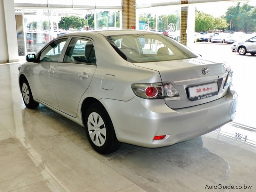
[{"label": "silver trunk lid of the Toyota with BB Motors plate", "polygon": [[[228,75],[229,67],[223,61],[212,62],[200,57],[186,60],[134,63],[134,65],[156,70],[159,72],[162,82],[172,83],[179,93],[180,99],[165,99],[165,103],[173,109],[210,102],[223,97],[227,93],[227,88],[223,89],[223,86]],[[202,72],[205,67],[209,70],[207,75],[204,75]],[[207,94],[201,92],[192,93],[197,88],[198,90],[203,90],[211,86],[213,86],[213,90],[204,92]]]}]

